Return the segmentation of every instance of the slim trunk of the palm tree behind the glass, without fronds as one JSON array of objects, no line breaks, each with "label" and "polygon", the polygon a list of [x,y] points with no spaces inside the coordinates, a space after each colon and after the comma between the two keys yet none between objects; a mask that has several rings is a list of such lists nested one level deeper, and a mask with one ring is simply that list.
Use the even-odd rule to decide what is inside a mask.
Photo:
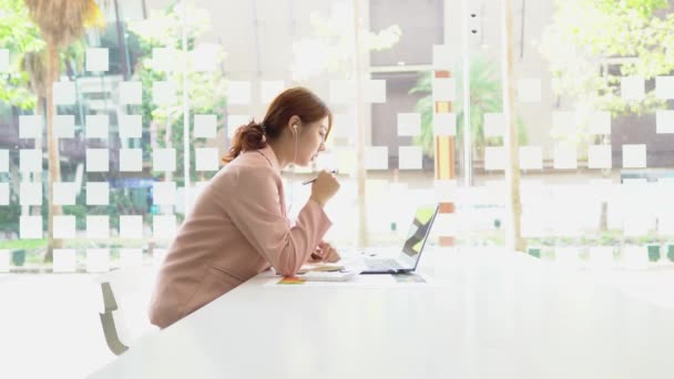
[{"label": "slim trunk of the palm tree behind the glass, without fronds", "polygon": [[49,74],[47,84],[47,150],[49,165],[49,197],[47,199],[49,207],[48,234],[47,234],[47,254],[44,262],[53,260],[53,249],[63,247],[63,242],[54,239],[54,216],[63,213],[61,206],[53,204],[54,183],[61,181],[61,160],[59,157],[59,141],[54,140],[54,99],[53,83],[59,75],[59,50],[54,43],[49,43]]}]

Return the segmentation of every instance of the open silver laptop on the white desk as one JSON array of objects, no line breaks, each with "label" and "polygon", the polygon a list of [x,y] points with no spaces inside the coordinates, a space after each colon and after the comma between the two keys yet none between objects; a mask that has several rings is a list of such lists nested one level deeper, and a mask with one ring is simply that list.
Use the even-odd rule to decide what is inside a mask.
[{"label": "open silver laptop on the white desk", "polygon": [[400,274],[417,269],[439,207],[431,205],[417,208],[400,254],[396,258],[367,257],[364,259],[366,268],[360,274]]}]

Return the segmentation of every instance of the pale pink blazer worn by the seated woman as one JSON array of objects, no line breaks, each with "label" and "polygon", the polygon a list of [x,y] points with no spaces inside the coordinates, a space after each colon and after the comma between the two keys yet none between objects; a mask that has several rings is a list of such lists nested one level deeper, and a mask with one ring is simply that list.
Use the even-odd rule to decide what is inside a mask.
[{"label": "pale pink blazer worn by the seated woman", "polygon": [[330,226],[314,201],[290,225],[274,151],[241,154],[211,180],[178,229],[157,275],[150,320],[165,328],[270,266],[294,275]]}]

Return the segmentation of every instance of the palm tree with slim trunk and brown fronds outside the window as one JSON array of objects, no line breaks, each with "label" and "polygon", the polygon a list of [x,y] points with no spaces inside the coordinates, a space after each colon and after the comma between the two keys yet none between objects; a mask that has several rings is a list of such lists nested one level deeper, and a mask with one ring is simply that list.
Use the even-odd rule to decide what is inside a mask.
[{"label": "palm tree with slim trunk and brown fronds outside the window", "polygon": [[52,203],[55,182],[61,181],[58,140],[53,139],[53,82],[59,78],[59,49],[76,41],[85,28],[103,25],[103,14],[94,0],[24,0],[29,13],[42,38],[47,42],[47,148],[49,164],[49,227],[45,262],[52,259],[54,248],[62,246],[61,240],[53,238],[53,217],[62,214],[62,208]]}]

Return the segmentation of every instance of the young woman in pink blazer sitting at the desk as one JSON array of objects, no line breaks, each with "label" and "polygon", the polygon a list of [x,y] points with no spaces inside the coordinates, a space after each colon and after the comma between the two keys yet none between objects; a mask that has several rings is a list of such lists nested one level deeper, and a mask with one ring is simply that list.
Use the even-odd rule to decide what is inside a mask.
[{"label": "young woman in pink blazer sitting at the desk", "polygon": [[280,170],[306,166],[325,150],[333,114],[304,88],[279,94],[261,123],[236,132],[226,165],[185,218],[160,268],[150,319],[165,328],[274,267],[292,276],[309,259],[339,260],[323,236],[331,223],[323,206],[339,190],[323,171],[290,225]]}]

